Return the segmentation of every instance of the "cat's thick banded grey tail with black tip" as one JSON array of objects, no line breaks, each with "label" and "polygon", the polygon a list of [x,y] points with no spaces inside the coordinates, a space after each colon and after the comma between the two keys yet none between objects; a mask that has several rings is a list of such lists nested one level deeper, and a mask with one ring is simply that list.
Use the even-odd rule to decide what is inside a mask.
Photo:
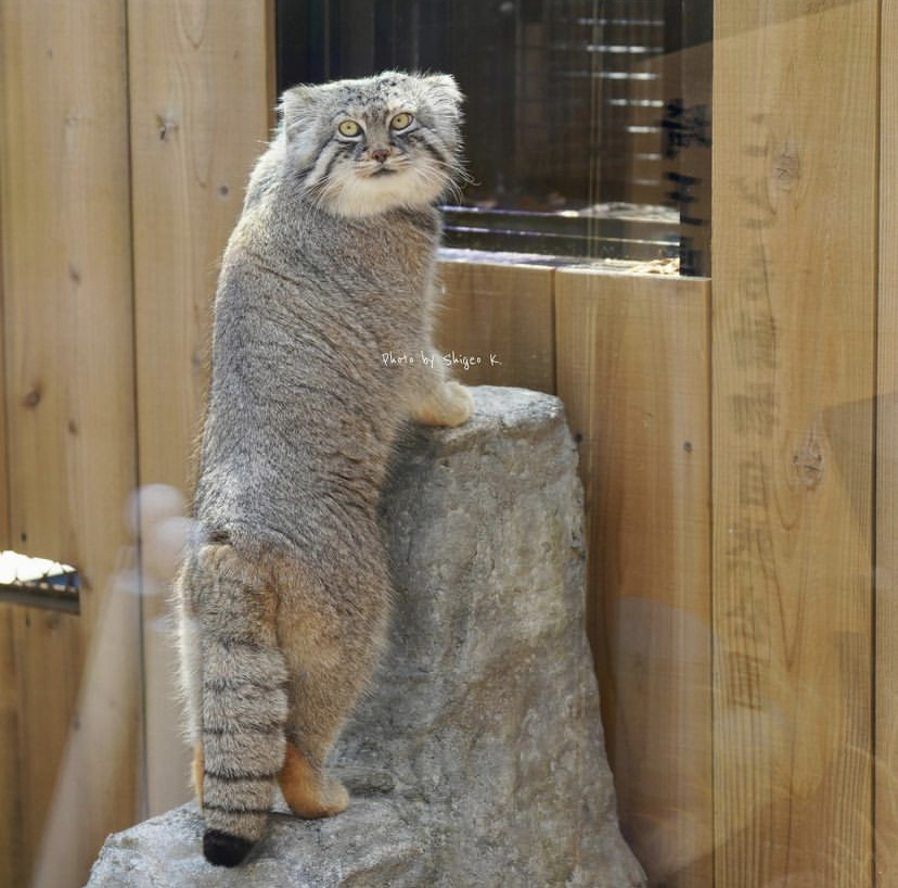
[{"label": "cat's thick banded grey tail with black tip", "polygon": [[285,753],[286,665],[273,593],[229,545],[198,553],[203,853],[236,866],[261,837]]}]

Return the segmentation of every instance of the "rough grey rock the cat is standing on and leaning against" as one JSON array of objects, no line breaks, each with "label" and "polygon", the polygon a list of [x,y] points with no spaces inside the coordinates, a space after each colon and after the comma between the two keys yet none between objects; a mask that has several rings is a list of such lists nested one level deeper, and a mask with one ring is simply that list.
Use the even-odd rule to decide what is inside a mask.
[{"label": "rough grey rock the cat is standing on and leaning against", "polygon": [[464,427],[410,432],[384,497],[398,595],[390,649],[333,757],[349,810],[275,813],[251,861],[222,871],[185,805],[110,837],[89,888],[644,885],[605,761],[562,405],[473,391]]}]

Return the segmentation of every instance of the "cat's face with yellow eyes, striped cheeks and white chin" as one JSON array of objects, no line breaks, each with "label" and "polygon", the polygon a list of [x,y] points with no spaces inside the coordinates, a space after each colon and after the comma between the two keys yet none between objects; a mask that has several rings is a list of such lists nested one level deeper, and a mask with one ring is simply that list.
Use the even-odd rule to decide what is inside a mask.
[{"label": "cat's face with yellow eyes, striped cheeks and white chin", "polygon": [[281,105],[287,161],[308,196],[338,215],[427,206],[461,174],[461,98],[446,74],[293,87]]}]

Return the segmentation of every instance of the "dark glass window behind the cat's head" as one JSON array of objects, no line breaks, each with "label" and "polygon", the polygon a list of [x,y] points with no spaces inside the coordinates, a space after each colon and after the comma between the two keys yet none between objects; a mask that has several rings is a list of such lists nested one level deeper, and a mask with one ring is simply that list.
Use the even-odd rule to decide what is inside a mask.
[{"label": "dark glass window behind the cat's head", "polygon": [[448,245],[706,274],[710,22],[709,0],[281,0],[278,86],[449,72],[474,181]]}]

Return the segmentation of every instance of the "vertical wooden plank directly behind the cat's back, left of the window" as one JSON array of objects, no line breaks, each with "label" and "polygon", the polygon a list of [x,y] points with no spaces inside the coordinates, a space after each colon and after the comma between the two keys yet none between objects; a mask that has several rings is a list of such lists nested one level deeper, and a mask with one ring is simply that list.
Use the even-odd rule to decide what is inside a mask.
[{"label": "vertical wooden plank directly behind the cat's back, left of the window", "polygon": [[151,812],[189,796],[164,625],[172,518],[204,408],[219,257],[269,135],[272,21],[266,0],[128,3]]}]

